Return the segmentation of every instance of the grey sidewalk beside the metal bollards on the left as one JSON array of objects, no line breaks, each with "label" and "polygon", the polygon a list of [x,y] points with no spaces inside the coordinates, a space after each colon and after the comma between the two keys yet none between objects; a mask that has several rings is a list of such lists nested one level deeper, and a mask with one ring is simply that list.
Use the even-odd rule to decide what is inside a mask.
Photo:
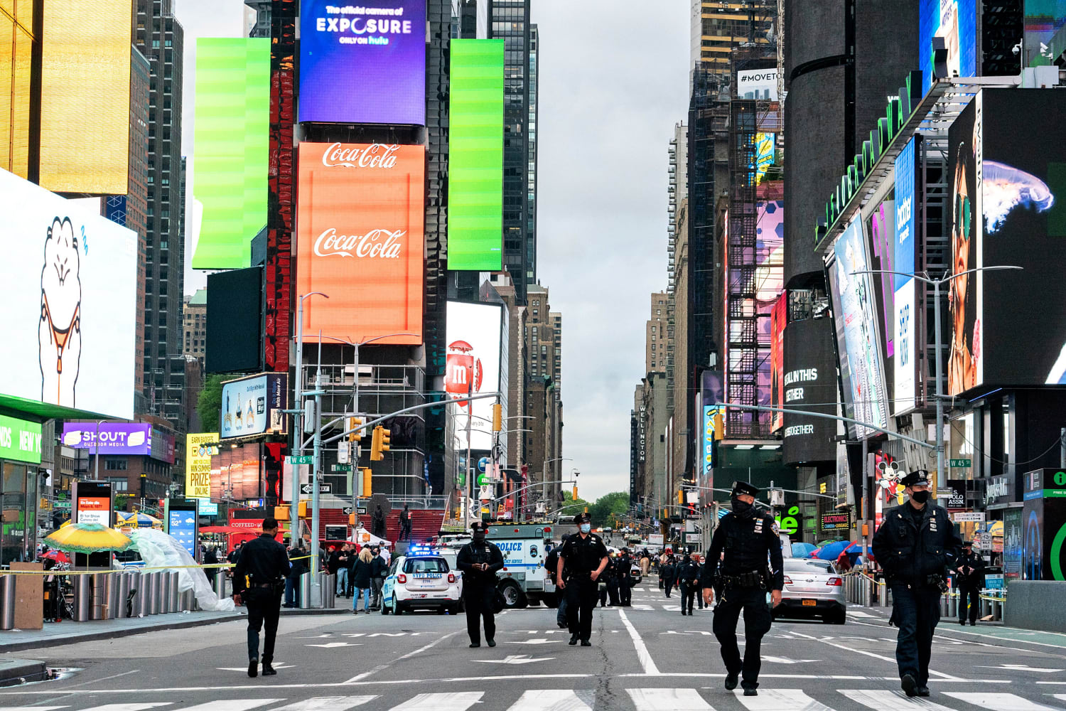
[{"label": "grey sidewalk beside the metal bollards on the left", "polygon": [[[287,610],[281,609],[282,617],[301,615],[344,615],[352,614],[351,604],[342,604],[329,610]],[[95,640],[112,640],[115,637],[155,632],[158,630],[178,630],[189,627],[214,625],[243,619],[247,612],[238,608],[233,612],[172,612],[164,615],[148,615],[145,617],[126,617],[120,619],[97,619],[86,623],[75,623],[65,619],[62,623],[45,623],[39,630],[4,630],[0,631],[0,653],[58,647],[78,642]]]}]

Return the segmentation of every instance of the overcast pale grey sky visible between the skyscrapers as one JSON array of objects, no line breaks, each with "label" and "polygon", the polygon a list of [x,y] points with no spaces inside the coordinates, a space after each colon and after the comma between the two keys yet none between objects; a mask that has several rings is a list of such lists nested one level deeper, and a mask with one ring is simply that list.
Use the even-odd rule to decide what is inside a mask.
[{"label": "overcast pale grey sky visible between the skyscrapers", "polygon": [[[689,2],[653,4],[533,0],[537,276],[563,313],[563,454],[574,458],[563,471],[581,471],[580,494],[589,500],[629,489],[644,323],[649,294],[666,287],[666,149],[688,110]],[[240,36],[244,5],[175,5],[185,30],[182,150],[193,156],[196,37]],[[187,269],[187,293],[204,282]]]}]

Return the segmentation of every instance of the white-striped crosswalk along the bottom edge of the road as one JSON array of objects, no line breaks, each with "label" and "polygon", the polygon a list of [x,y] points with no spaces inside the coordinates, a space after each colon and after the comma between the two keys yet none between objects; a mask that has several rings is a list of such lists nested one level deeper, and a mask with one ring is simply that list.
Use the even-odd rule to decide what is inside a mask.
[{"label": "white-striped crosswalk along the bottom edge of the road", "polygon": [[[278,690],[282,693],[291,690]],[[91,693],[91,692],[90,692]],[[604,702],[595,690],[537,689],[523,691],[486,690],[414,694],[397,689],[389,695],[317,696],[291,698],[219,699],[185,706],[172,701],[136,701],[74,706],[0,706],[0,711],[349,711],[358,707],[391,711],[1066,711],[1059,701],[1066,694],[1033,694],[1033,700],[1017,694],[975,693],[935,690],[932,698],[907,698],[900,691],[877,689],[802,690],[763,686],[758,696],[742,696],[721,686],[698,689],[639,688],[616,692]],[[814,698],[819,696],[820,698]],[[631,707],[625,704],[626,698]],[[0,701],[2,702],[2,701]]]}]

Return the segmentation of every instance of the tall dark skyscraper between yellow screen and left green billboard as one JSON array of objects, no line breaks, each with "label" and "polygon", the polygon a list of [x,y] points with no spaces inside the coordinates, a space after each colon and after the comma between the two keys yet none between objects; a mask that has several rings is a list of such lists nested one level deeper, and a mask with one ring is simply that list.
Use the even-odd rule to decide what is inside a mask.
[{"label": "tall dark skyscraper between yellow screen and left green billboard", "polygon": [[181,306],[184,236],[181,76],[184,30],[171,0],[138,0],[134,44],[150,64],[144,379],[148,411],[185,427]]}]

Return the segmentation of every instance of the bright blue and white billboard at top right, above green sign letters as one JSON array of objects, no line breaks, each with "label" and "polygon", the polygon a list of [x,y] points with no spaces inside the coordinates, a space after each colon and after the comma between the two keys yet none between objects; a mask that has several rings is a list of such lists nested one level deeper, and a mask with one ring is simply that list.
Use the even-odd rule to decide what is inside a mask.
[{"label": "bright blue and white billboard at top right, above green sign letters", "polygon": [[918,62],[922,68],[922,94],[933,82],[933,37],[948,46],[948,76],[976,75],[975,0],[921,0],[918,7]]}]

